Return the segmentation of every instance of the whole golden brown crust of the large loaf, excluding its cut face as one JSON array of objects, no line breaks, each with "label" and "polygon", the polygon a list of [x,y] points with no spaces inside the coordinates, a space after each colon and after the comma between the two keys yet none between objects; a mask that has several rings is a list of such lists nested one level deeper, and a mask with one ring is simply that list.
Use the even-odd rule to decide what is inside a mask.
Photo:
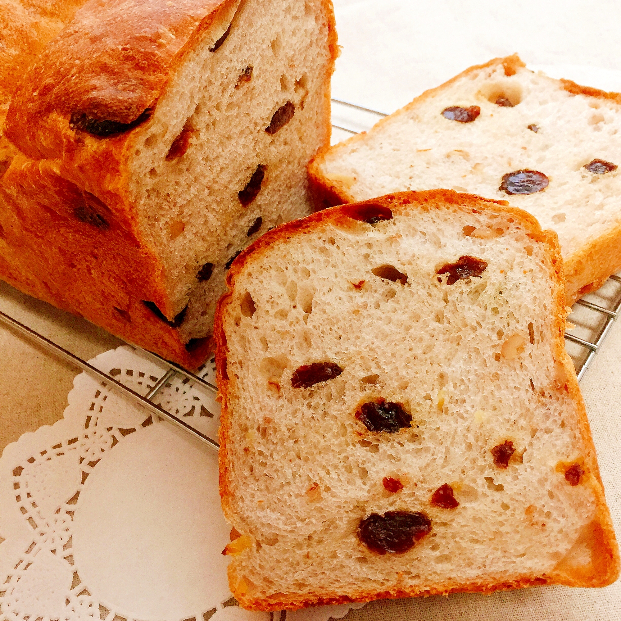
[{"label": "whole golden brown crust of the large loaf, excluding its cut face", "polygon": [[[7,43],[23,71],[15,71],[17,66],[10,75],[0,71],[0,122],[16,91],[0,137],[0,278],[188,368],[204,361],[209,339],[188,343],[188,351],[179,330],[143,304],[153,302],[169,321],[181,310],[167,294],[164,266],[143,236],[128,189],[128,161],[149,121],[97,137],[71,118],[84,114],[128,123],[140,117],[156,105],[198,40],[220,36],[238,4],[66,0],[41,9],[35,22],[39,30],[47,24],[45,32],[34,28],[28,21],[32,14],[20,4],[7,5],[14,9],[9,16],[15,16]],[[327,121],[338,47],[332,4],[320,4],[331,57],[325,75]],[[8,48],[0,48],[2,58]],[[9,83],[16,73],[20,83]],[[329,142],[326,122],[324,144]],[[95,220],[85,222],[86,212]],[[97,217],[104,227],[96,226]]]}]

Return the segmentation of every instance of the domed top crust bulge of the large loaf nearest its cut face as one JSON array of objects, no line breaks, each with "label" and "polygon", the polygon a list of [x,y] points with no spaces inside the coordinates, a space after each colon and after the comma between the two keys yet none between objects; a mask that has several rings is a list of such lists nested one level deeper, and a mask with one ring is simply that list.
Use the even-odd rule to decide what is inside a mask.
[{"label": "domed top crust bulge of the large loaf nearest its cut face", "polygon": [[[231,2],[179,0],[167,6],[166,0],[89,0],[22,79],[7,114],[7,137],[35,159],[93,147],[89,142],[97,140],[86,135],[76,144],[79,130],[69,127],[71,116],[136,120],[155,106],[216,9]],[[117,150],[125,140],[127,135],[104,143]]]}]

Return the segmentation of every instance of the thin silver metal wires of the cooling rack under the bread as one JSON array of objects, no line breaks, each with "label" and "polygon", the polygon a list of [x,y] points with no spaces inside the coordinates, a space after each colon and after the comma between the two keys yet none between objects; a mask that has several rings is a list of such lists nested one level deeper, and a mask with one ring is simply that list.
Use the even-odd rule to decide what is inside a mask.
[{"label": "thin silver metal wires of the cooling rack under the bread", "polygon": [[[370,110],[368,108],[358,106],[357,104],[353,104],[348,101],[342,101],[339,99],[332,99],[332,101],[341,106],[345,106],[361,112],[374,114],[378,117],[388,116],[384,112]],[[348,132],[349,134],[359,133],[358,130],[348,127],[342,127],[335,124],[333,124],[332,127]],[[621,277],[613,275],[610,276],[609,280],[618,285],[618,290],[615,292],[612,300],[609,300],[609,307],[602,306],[601,304],[595,304],[594,302],[586,300],[579,300],[578,302],[576,302],[576,304],[574,304],[574,308],[576,306],[579,306],[604,319],[604,324],[602,325],[599,332],[597,332],[596,337],[593,340],[587,340],[585,338],[577,337],[572,334],[565,335],[566,340],[586,350],[586,357],[584,358],[584,360],[578,363],[576,363],[576,361],[574,360],[574,365],[576,366],[576,373],[578,374],[578,381],[581,381],[587,369],[589,369],[589,366],[591,366],[592,361],[594,360],[597,352],[600,350],[605,338],[609,334],[610,329],[612,328],[615,319],[617,319],[617,316],[619,315],[621,309]],[[177,365],[176,363],[173,363],[169,360],[165,360],[165,358],[162,358],[161,356],[158,356],[151,351],[143,350],[142,348],[137,347],[137,345],[134,345],[133,343],[128,343],[135,349],[142,351],[142,353],[144,353],[146,356],[152,358],[152,360],[168,365],[168,370],[166,370],[162,374],[161,378],[156,381],[155,385],[150,389],[150,391],[145,396],[142,396],[137,392],[134,392],[132,389],[127,388],[127,386],[124,386],[124,384],[121,384],[119,381],[112,378],[112,376],[110,376],[109,374],[104,373],[103,371],[100,371],[93,365],[89,364],[86,360],[79,358],[79,356],[76,356],[75,354],[61,347],[60,345],[58,345],[58,343],[55,343],[52,340],[44,337],[42,334],[36,332],[35,330],[32,330],[27,325],[20,323],[19,321],[11,317],[11,315],[7,315],[6,313],[0,311],[0,323],[11,326],[13,329],[17,330],[21,334],[32,338],[33,340],[35,340],[35,342],[43,345],[43,347],[47,348],[50,351],[53,351],[63,360],[66,360],[71,364],[78,366],[79,368],[83,369],[83,371],[86,371],[86,373],[94,376],[96,379],[103,381],[112,389],[127,395],[132,401],[142,407],[145,407],[153,415],[158,415],[163,419],[169,420],[171,423],[177,425],[184,431],[191,433],[191,435],[193,435],[195,438],[198,438],[202,442],[206,443],[207,446],[215,448],[215,450],[219,449],[220,445],[215,442],[215,440],[208,437],[207,435],[204,435],[204,433],[199,432],[191,425],[188,425],[184,420],[176,417],[174,414],[166,412],[165,409],[156,405],[152,401],[153,397],[155,397],[158,392],[160,392],[161,388],[163,388],[166,383],[170,382],[171,379],[174,379],[175,376],[178,374],[181,374],[189,380],[196,382],[199,387],[205,389],[206,391],[217,394],[217,387],[205,379],[206,373],[202,376],[196,373],[192,373],[191,371],[188,371],[188,369],[184,369],[183,366]]]}]

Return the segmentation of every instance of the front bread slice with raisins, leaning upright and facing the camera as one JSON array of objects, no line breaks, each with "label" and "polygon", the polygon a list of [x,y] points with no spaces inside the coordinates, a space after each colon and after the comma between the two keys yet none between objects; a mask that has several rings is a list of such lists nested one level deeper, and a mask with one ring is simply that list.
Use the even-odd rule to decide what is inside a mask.
[{"label": "front bread slice with raisins, leaning upright and facing the camera", "polygon": [[326,209],[235,260],[215,337],[243,607],[617,578],[561,263],[531,215],[448,190]]}]

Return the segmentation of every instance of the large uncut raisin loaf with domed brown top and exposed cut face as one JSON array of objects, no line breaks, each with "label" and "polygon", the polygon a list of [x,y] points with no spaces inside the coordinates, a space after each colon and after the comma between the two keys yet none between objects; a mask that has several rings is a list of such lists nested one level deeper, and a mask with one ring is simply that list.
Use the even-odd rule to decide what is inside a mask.
[{"label": "large uncut raisin loaf with domed brown top and exposed cut face", "polygon": [[196,366],[233,256],[311,212],[330,0],[2,11],[0,278]]}]

